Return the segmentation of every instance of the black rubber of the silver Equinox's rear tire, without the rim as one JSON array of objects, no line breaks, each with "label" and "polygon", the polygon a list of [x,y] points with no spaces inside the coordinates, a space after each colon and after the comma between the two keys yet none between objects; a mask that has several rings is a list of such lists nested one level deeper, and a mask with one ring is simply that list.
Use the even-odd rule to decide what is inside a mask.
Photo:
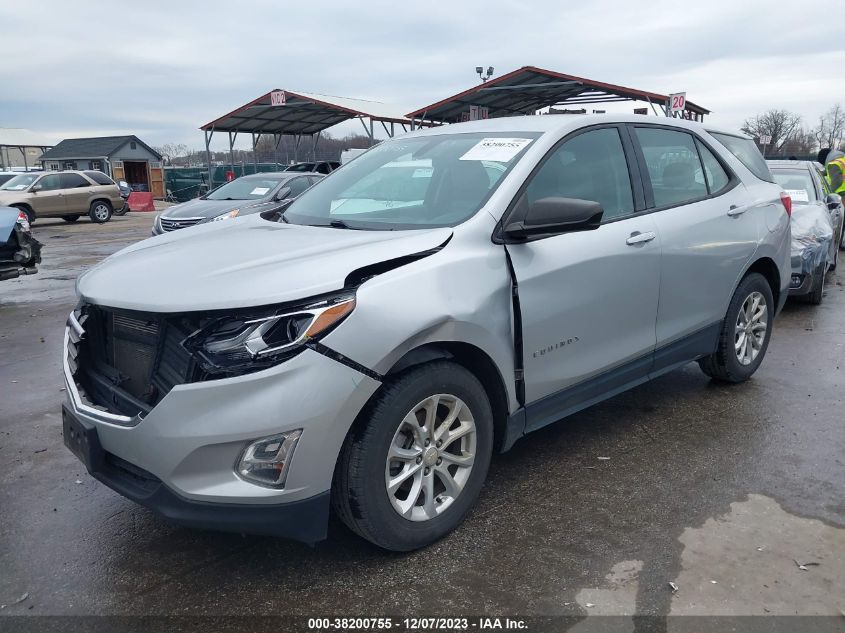
[{"label": "black rubber of the silver Equinox's rear tire, without the rim", "polygon": [[[739,318],[739,312],[745,303],[745,300],[751,296],[752,293],[759,292],[763,295],[766,302],[767,309],[767,327],[763,342],[756,358],[748,365],[740,363],[737,358],[735,349],[736,324]],[[719,332],[719,343],[716,351],[709,356],[699,359],[698,366],[701,371],[713,378],[722,382],[745,382],[751,378],[752,374],[757,371],[763,358],[766,356],[766,350],[769,347],[769,339],[772,337],[772,324],[775,316],[775,303],[772,297],[772,289],[769,282],[763,275],[759,273],[749,273],[737,286],[734,296],[731,298],[728,312],[725,315],[725,320],[722,323],[722,329]]]}]

